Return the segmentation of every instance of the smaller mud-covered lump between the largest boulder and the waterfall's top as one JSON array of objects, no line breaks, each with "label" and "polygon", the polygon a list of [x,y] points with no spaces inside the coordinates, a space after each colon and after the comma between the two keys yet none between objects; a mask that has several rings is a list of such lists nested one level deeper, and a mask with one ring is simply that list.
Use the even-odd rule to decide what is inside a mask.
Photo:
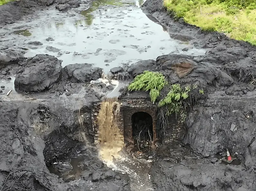
[{"label": "smaller mud-covered lump between the largest boulder and the waterfall's top", "polygon": [[70,64],[64,67],[65,78],[72,82],[90,82],[101,78],[102,69],[91,64]]}]

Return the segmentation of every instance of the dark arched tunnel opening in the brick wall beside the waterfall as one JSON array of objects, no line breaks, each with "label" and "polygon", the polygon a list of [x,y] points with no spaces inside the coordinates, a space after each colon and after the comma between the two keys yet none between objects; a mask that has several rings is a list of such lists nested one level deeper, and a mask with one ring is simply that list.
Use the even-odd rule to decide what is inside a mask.
[{"label": "dark arched tunnel opening in the brick wall beside the waterfall", "polygon": [[132,137],[139,150],[148,148],[153,141],[153,118],[147,112],[131,116]]}]

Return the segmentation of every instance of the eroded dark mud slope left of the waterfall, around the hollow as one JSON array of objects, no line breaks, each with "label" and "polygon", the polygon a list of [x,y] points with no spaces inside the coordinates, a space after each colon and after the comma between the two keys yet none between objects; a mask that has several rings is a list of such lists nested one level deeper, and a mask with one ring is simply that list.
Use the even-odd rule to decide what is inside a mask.
[{"label": "eroded dark mud slope left of the waterfall, around the hollow", "polygon": [[[77,111],[60,106],[60,103],[1,104],[2,190],[102,190],[105,187],[106,190],[129,191],[127,177],[107,168],[98,159],[97,151],[81,139],[87,140],[88,137],[88,107],[81,110],[81,115],[85,116],[85,122],[82,122],[85,129],[81,129]],[[82,132],[84,136],[81,136]],[[67,162],[79,147],[83,148],[86,157],[79,164],[84,169],[79,175],[82,177],[80,180],[65,183],[49,172],[45,162],[47,165]]]}]

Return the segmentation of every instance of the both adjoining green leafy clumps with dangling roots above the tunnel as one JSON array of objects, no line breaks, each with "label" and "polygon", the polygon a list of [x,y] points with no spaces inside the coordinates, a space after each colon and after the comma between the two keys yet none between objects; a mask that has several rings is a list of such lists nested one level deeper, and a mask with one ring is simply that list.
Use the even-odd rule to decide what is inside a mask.
[{"label": "both adjoining green leafy clumps with dangling roots above the tunnel", "polygon": [[[167,84],[165,77],[160,72],[144,71],[143,74],[136,76],[133,82],[129,84],[128,90],[150,90],[149,96],[151,101],[155,103],[160,96],[160,91]],[[204,90],[199,87],[199,81],[185,87],[181,87],[180,84],[172,84],[169,93],[158,102],[158,106],[166,106],[166,115],[175,113],[176,117],[183,123],[185,122],[187,111],[196,103],[199,94],[204,95]]]}]

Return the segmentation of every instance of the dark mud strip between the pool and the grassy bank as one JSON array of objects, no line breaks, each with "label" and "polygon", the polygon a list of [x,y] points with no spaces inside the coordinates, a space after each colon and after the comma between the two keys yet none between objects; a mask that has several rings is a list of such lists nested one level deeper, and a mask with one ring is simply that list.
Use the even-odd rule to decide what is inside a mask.
[{"label": "dark mud strip between the pool and the grassy bank", "polygon": [[227,37],[225,34],[214,31],[203,31],[200,27],[186,23],[183,18],[175,21],[174,15],[167,11],[162,0],[147,0],[141,6],[145,14],[151,14],[162,25],[166,26],[169,34],[184,35],[193,38],[191,41],[198,48],[213,48],[224,43],[227,47],[242,46],[244,48],[255,48],[251,44]]}]

